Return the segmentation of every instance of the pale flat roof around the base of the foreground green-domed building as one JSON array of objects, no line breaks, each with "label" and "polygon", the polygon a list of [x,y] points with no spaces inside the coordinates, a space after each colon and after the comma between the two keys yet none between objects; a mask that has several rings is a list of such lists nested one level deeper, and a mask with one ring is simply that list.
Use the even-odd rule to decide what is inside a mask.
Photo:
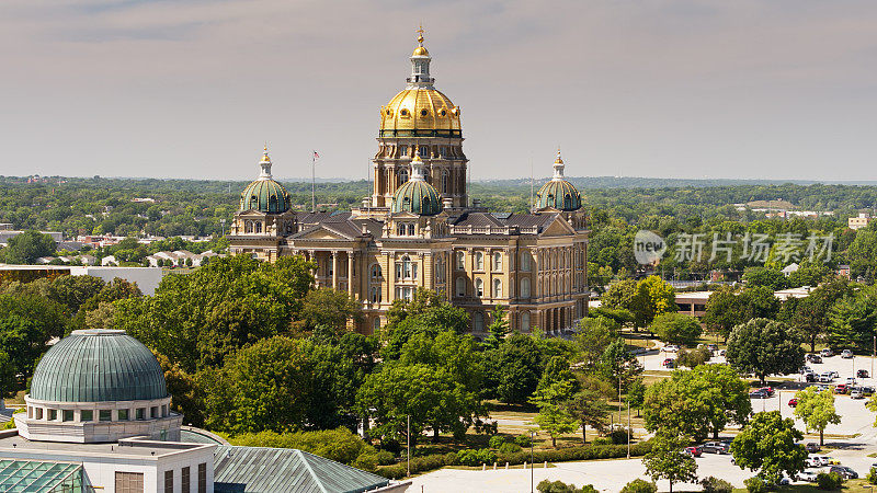
[{"label": "pale flat roof around the base of the foreground green-domed building", "polygon": [[[13,432],[13,433],[10,433]],[[110,444],[70,444],[62,442],[35,442],[22,438],[18,431],[0,433],[0,457],[3,452],[47,452],[59,455],[107,455],[117,457],[161,457],[202,447],[215,447],[206,444],[183,444],[178,442],[136,440],[126,438]]]}]

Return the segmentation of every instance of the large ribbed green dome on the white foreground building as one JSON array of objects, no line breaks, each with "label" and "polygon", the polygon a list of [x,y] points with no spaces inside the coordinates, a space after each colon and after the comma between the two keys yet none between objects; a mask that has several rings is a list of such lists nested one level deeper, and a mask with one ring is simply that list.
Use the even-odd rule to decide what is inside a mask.
[{"label": "large ribbed green dome on the white foreground building", "polygon": [[31,399],[56,402],[140,401],[168,397],[152,353],[125,331],[73,331],[43,356]]}]

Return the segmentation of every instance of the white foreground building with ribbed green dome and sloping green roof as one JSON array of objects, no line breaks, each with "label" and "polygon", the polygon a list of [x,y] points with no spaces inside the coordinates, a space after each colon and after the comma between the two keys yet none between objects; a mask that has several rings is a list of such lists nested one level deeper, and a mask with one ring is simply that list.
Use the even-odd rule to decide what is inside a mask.
[{"label": "white foreground building with ribbed green dome and sloping green roof", "polygon": [[117,330],[73,331],[34,371],[15,428],[0,431],[0,492],[403,492],[296,449],[230,446],[182,426],[164,372]]}]

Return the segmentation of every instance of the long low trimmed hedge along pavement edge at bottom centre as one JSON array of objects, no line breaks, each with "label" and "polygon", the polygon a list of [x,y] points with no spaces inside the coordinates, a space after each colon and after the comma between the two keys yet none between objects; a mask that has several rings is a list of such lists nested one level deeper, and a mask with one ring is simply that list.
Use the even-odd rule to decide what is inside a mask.
[{"label": "long low trimmed hedge along pavement edge at bottom centre", "polygon": [[[448,452],[444,455],[435,454],[424,457],[413,457],[411,458],[411,472],[425,472],[444,466],[468,466],[464,461],[464,457],[466,457],[467,461],[472,460],[470,457],[475,457],[476,460],[483,459],[483,462],[477,462],[474,463],[474,466],[480,466],[481,463],[492,465],[494,460],[503,466],[505,466],[505,462],[510,465],[529,462],[529,450],[522,450],[514,454],[500,454],[499,456],[493,456],[493,459],[490,459],[487,455],[480,456],[477,454],[481,450],[488,450],[492,454],[489,449],[467,450],[471,449],[460,450],[457,454]],[[650,450],[651,442],[639,442],[630,445],[631,457],[645,456]],[[583,445],[558,448],[555,450],[537,450],[533,454],[533,461],[536,463],[566,462],[570,460],[617,459],[620,457],[627,457],[627,445]],[[380,467],[377,469],[377,473],[389,479],[405,478],[406,462],[403,460],[398,465]]]}]

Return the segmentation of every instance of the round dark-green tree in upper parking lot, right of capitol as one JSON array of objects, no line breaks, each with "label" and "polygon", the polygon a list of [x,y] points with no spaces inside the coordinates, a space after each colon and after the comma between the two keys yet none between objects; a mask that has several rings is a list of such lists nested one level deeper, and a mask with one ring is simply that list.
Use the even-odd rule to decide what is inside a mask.
[{"label": "round dark-green tree in upper parking lot, right of capitol", "polygon": [[753,319],[737,325],[728,337],[728,363],[754,374],[761,385],[768,375],[795,374],[804,366],[804,349],[783,322]]}]

